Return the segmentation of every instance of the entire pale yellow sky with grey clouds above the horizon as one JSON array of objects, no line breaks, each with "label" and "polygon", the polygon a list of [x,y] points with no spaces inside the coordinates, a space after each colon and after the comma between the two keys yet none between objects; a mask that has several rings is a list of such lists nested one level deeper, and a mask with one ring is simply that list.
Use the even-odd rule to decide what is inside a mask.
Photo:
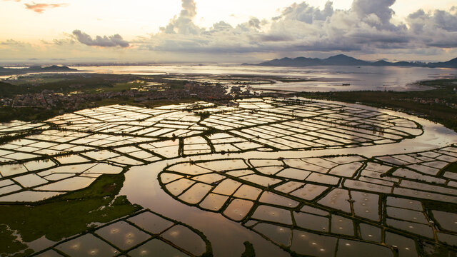
[{"label": "entire pale yellow sky with grey clouds above the horizon", "polygon": [[0,0],[0,63],[457,57],[455,0]]}]

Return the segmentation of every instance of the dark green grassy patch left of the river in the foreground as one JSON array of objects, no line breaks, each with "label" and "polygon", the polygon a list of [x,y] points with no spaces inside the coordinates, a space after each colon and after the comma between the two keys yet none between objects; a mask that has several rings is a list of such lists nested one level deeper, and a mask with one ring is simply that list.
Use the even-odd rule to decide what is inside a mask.
[{"label": "dark green grassy patch left of the river in the foreground", "polygon": [[61,197],[33,205],[0,205],[0,246],[11,246],[1,254],[26,248],[15,240],[14,231],[24,242],[42,236],[60,241],[87,231],[91,223],[107,223],[139,211],[141,206],[132,205],[126,196],[117,196],[123,183],[124,174],[102,175],[88,188]]}]

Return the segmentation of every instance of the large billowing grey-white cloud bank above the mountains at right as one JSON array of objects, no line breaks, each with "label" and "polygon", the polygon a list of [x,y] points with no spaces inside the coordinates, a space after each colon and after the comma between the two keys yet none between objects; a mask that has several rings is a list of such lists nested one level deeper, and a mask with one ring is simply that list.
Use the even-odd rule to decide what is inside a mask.
[{"label": "large billowing grey-white cloud bank above the mountains at right", "polygon": [[292,53],[303,51],[358,51],[453,48],[457,42],[457,9],[418,11],[393,23],[395,0],[354,0],[351,9],[323,9],[306,2],[292,4],[266,21],[251,17],[237,26],[220,21],[211,28],[194,24],[196,4],[181,0],[182,10],[158,34],[138,39],[149,51],[227,54]]}]

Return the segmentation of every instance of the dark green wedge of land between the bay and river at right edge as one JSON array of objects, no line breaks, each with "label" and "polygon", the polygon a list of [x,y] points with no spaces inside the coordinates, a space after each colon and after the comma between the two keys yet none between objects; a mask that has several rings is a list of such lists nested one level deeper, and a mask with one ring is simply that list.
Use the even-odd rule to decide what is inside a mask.
[{"label": "dark green wedge of land between the bay and river at right edge", "polygon": [[457,109],[451,104],[457,104],[457,79],[438,79],[421,81],[423,86],[431,86],[427,91],[351,91],[302,93],[308,99],[326,99],[346,103],[361,103],[378,108],[390,108],[416,116],[423,116],[431,121],[443,124],[448,129],[457,131]]}]

